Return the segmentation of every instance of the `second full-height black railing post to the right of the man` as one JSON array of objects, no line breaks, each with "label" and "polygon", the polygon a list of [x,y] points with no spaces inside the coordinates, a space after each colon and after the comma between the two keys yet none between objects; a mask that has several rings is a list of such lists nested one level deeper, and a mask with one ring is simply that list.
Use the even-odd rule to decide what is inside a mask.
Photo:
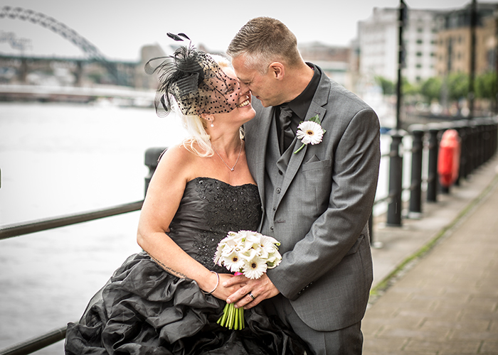
[{"label": "second full-height black railing post to the right of the man", "polygon": [[410,131],[413,137],[408,217],[420,218],[420,214],[422,213],[422,155],[425,126],[423,124],[412,124],[408,127],[408,131]]}]

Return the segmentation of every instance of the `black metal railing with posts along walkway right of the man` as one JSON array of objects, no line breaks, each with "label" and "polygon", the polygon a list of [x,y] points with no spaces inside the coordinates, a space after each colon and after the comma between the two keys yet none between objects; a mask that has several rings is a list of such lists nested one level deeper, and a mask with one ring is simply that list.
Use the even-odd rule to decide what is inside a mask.
[{"label": "black metal railing with posts along walkway right of the man", "polygon": [[[484,117],[470,120],[444,121],[434,124],[413,124],[408,127],[412,138],[412,147],[407,153],[401,153],[406,131],[391,131],[391,149],[388,196],[378,198],[374,206],[388,202],[387,224],[401,226],[403,219],[403,191],[410,192],[408,213],[405,217],[418,218],[422,212],[423,184],[428,202],[437,202],[439,193],[450,193],[450,187],[442,187],[438,180],[438,150],[441,136],[447,129],[455,129],[460,136],[460,166],[455,185],[482,164],[486,163],[497,152],[498,118]],[[410,186],[403,188],[403,158],[411,155]],[[423,156],[426,153],[427,178],[423,179]],[[373,214],[371,216],[373,219]],[[370,225],[373,222],[370,221]],[[373,243],[371,229],[371,243]]]}]

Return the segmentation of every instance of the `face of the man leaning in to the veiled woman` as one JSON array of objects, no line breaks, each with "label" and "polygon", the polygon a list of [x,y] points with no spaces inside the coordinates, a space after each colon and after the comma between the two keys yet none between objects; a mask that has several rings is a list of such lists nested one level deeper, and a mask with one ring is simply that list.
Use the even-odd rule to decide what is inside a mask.
[{"label": "face of the man leaning in to the veiled woman", "polygon": [[251,94],[261,101],[264,107],[276,106],[282,104],[277,90],[277,80],[274,72],[269,68],[265,75],[262,75],[258,70],[245,65],[244,55],[239,55],[232,60],[233,69],[240,87],[248,87]]}]

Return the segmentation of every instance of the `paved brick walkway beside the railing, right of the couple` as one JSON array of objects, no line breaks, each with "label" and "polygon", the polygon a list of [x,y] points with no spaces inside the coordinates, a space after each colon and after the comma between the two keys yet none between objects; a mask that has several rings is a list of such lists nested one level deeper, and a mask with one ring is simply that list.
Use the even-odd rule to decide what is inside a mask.
[{"label": "paved brick walkway beside the railing, right of the couple", "polygon": [[376,222],[364,355],[498,354],[497,156],[439,199],[403,227]]}]

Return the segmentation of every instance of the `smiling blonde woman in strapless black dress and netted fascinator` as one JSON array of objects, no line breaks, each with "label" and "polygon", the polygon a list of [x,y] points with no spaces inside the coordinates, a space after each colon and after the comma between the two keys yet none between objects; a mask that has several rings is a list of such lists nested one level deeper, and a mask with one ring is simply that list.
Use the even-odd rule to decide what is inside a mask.
[{"label": "smiling blonde woman in strapless black dress and netted fascinator", "polygon": [[160,73],[157,113],[174,109],[191,137],[163,153],[149,184],[137,232],[144,251],[68,324],[65,353],[305,354],[259,305],[245,311],[245,329],[216,323],[235,292],[223,287],[232,275],[213,262],[216,246],[228,231],[260,224],[241,129],[255,111],[225,58],[189,45],[161,59],[148,65]]}]

